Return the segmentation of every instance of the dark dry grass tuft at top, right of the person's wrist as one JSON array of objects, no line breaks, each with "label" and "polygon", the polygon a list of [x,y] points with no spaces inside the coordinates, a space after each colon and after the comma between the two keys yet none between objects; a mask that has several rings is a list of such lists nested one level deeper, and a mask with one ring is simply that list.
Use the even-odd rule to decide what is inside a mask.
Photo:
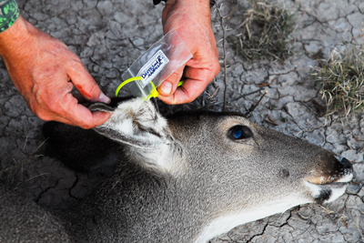
[{"label": "dark dry grass tuft at top, right of the person's wrist", "polygon": [[268,1],[251,0],[243,11],[239,34],[227,37],[239,54],[248,60],[283,60],[292,55],[288,35],[294,30],[294,21],[288,10]]}]

